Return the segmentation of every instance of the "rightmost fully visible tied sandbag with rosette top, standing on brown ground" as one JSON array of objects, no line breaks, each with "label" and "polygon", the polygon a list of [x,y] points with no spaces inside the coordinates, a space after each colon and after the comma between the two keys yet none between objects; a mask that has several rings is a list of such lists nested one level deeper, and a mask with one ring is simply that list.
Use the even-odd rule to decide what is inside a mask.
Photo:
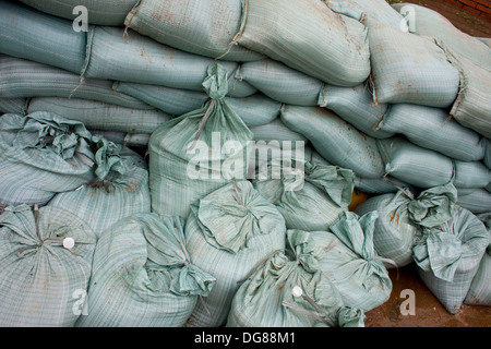
[{"label": "rightmost fully visible tied sandbag with rosette top, standing on brown ground", "polygon": [[424,229],[415,244],[419,277],[451,314],[460,310],[488,245],[483,222],[459,206],[442,227]]}]

